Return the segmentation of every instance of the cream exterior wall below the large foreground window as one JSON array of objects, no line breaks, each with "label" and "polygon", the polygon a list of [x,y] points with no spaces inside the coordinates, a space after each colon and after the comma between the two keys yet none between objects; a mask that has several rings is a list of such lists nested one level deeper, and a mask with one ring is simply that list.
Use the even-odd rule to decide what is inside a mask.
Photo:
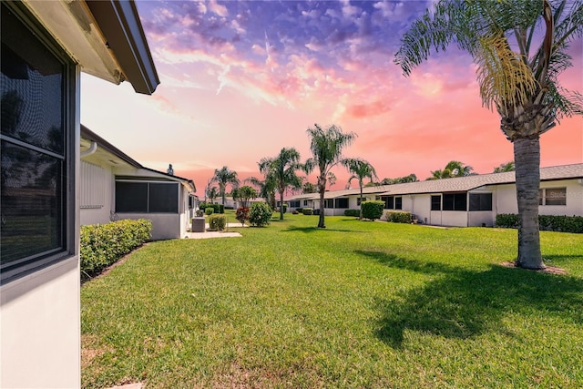
[{"label": "cream exterior wall below the large foreground window", "polygon": [[79,257],[2,286],[0,387],[77,388]]}]

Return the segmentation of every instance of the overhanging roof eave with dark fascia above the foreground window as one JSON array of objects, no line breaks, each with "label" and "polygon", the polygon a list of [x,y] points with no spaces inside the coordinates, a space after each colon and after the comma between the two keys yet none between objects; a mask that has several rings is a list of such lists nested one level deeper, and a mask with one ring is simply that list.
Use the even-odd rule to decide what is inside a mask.
[{"label": "overhanging roof eave with dark fascia above the foreground window", "polygon": [[24,0],[82,71],[151,95],[160,81],[133,0]]}]

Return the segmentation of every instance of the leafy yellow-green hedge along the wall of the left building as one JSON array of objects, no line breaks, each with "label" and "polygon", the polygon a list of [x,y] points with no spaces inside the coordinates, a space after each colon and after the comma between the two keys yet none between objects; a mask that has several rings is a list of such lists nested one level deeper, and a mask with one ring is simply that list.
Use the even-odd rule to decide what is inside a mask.
[{"label": "leafy yellow-green hedge along the wall of the left building", "polygon": [[152,221],[119,220],[81,226],[81,279],[87,280],[152,237]]}]

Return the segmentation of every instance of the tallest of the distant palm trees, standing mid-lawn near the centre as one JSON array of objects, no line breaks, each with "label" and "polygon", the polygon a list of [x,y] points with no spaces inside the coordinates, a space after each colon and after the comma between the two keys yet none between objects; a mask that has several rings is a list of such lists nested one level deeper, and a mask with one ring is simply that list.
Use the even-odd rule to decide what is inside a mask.
[{"label": "tallest of the distant palm trees, standing mid-lawn near the centre", "polygon": [[343,133],[342,128],[333,124],[328,128],[322,128],[318,124],[314,124],[313,128],[307,129],[307,132],[311,138],[310,150],[313,157],[306,161],[304,168],[307,174],[310,174],[316,166],[319,169],[316,183],[320,193],[318,228],[325,229],[324,192],[326,191],[326,183],[332,173],[330,170],[343,160],[343,148],[353,143],[356,134],[353,132]]}]

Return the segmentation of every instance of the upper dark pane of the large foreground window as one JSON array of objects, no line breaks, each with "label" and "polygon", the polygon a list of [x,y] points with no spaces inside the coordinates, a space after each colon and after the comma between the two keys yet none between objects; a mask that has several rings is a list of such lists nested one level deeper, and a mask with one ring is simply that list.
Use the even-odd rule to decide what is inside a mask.
[{"label": "upper dark pane of the large foreground window", "polygon": [[2,7],[2,134],[64,155],[65,67]]}]

